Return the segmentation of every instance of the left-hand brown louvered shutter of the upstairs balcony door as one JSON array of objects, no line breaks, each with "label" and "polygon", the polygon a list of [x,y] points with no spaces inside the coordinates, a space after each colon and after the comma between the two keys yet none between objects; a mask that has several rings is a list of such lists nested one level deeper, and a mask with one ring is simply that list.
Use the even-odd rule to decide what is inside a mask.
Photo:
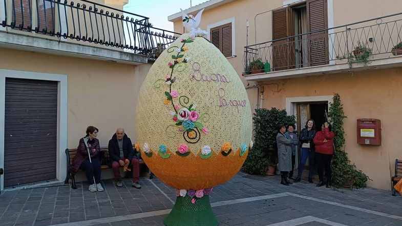
[{"label": "left-hand brown louvered shutter of the upstairs balcony door", "polygon": [[[288,35],[288,8],[272,11],[272,38],[280,39]],[[272,69],[286,70],[289,67],[288,40],[282,39],[272,43]]]}]

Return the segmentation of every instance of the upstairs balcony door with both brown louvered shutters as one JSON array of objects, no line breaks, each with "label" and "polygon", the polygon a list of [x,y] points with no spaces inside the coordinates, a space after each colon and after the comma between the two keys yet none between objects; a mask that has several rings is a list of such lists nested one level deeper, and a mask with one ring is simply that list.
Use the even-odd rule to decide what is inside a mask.
[{"label": "upstairs balcony door with both brown louvered shutters", "polygon": [[328,64],[328,32],[314,32],[327,28],[327,0],[307,0],[274,10],[273,71]]}]

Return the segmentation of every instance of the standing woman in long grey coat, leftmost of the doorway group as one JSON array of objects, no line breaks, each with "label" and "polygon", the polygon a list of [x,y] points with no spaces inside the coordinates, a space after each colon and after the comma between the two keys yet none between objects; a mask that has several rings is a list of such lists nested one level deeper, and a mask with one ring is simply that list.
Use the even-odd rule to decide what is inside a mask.
[{"label": "standing woman in long grey coat, leftmost of the doorway group", "polygon": [[289,185],[292,183],[287,178],[288,171],[292,170],[292,144],[293,141],[285,136],[286,128],[283,124],[278,126],[278,170],[281,171],[281,183]]}]

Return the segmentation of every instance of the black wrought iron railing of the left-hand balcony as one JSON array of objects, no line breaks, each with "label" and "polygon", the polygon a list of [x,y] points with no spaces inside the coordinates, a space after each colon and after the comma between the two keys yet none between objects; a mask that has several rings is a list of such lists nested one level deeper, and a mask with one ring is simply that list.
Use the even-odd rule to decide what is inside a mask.
[{"label": "black wrought iron railing of the left-hand balcony", "polygon": [[154,57],[179,33],[153,28],[149,18],[87,0],[4,0],[0,22],[8,31],[55,36]]}]

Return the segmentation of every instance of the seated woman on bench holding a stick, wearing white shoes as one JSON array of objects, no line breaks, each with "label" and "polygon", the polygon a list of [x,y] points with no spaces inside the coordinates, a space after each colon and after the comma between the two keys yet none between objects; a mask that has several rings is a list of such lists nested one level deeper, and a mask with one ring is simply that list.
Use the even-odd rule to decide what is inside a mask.
[{"label": "seated woman on bench holding a stick, wearing white shoes", "polygon": [[[104,189],[100,184],[100,146],[99,140],[96,139],[98,129],[93,126],[87,128],[87,135],[79,139],[77,154],[73,159],[70,167],[70,172],[75,175],[78,169],[82,169],[87,174],[87,179],[90,184],[89,190],[91,192],[102,192]],[[88,148],[88,149],[87,149]],[[88,156],[88,150],[91,155],[91,161]]]}]

